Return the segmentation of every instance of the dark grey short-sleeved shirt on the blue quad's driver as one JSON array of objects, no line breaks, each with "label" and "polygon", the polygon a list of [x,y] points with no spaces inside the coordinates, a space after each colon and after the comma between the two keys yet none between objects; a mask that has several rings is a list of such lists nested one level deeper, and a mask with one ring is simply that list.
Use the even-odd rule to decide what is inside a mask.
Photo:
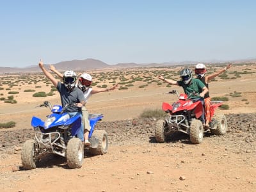
[{"label": "dark grey short-sleeved shirt on the blue quad's driver", "polygon": [[[66,86],[60,81],[57,84],[57,90],[60,92],[61,105],[64,107],[69,103],[77,103],[84,101],[84,94],[79,88],[76,86],[72,90],[72,92],[68,92]],[[81,111],[81,108],[70,107],[67,109],[67,113],[78,112]]]}]

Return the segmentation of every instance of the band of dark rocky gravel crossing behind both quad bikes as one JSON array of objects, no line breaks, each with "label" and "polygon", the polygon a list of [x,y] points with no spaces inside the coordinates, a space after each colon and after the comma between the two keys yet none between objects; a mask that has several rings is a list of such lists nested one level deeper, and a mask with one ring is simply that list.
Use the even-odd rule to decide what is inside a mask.
[{"label": "band of dark rocky gravel crossing behind both quad bikes", "polygon": [[[211,142],[227,143],[228,147],[241,152],[256,152],[256,113],[228,114],[226,115],[229,127],[229,134],[214,136],[209,132],[205,137]],[[108,132],[109,144],[127,145],[136,143],[155,143],[154,127],[156,119],[133,119],[115,122],[99,122],[96,129],[104,129]],[[14,147],[21,147],[24,141],[34,138],[33,129],[22,129],[16,131],[0,132],[0,152],[10,152]],[[187,142],[186,134],[175,133],[168,138],[168,143]],[[247,143],[249,145],[244,145]]]}]

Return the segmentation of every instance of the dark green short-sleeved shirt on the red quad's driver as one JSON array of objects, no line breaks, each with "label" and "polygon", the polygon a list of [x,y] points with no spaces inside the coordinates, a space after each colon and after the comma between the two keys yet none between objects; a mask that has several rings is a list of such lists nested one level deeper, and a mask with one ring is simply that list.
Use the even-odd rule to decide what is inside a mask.
[{"label": "dark green short-sleeved shirt on the red quad's driver", "polygon": [[200,98],[199,94],[203,91],[203,88],[205,87],[204,83],[200,81],[199,79],[191,79],[191,83],[185,84],[183,81],[177,81],[179,86],[182,86],[184,92],[190,96],[191,99],[197,99]]}]

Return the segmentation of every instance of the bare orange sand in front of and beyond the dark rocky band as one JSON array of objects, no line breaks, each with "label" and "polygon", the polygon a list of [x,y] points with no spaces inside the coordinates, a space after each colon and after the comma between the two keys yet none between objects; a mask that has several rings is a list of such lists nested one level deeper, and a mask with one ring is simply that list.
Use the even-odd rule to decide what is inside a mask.
[{"label": "bare orange sand in front of and beyond the dark rocky band", "polygon": [[[241,70],[241,67],[234,67],[234,70]],[[255,66],[252,70],[256,70]],[[235,80],[219,79],[210,84],[211,97],[241,92],[242,97],[228,97],[225,104],[230,109],[224,113],[256,113],[255,82],[255,74]],[[129,120],[138,118],[144,109],[161,109],[162,102],[175,101],[176,96],[168,94],[173,89],[182,92],[176,86],[166,88],[164,84],[152,84],[142,89],[134,87],[99,93],[90,98],[87,108],[90,113],[104,114],[101,124]],[[0,129],[0,134],[32,129],[31,116],[44,119],[49,114],[47,108],[36,108],[45,98],[29,97],[20,91],[15,99],[17,104],[0,101],[0,122],[17,122],[16,127]],[[60,104],[58,94],[47,97],[47,100]],[[122,132],[122,127],[120,130]],[[150,134],[154,136],[153,132]],[[227,134],[236,136],[239,141],[236,132]],[[0,191],[256,191],[253,141],[240,142],[239,148],[248,145],[249,149],[244,151],[237,150],[236,142],[230,143],[228,138],[222,136],[206,136],[199,145],[179,140],[154,143],[148,136],[140,141],[129,136],[122,140],[122,143],[109,141],[107,154],[86,156],[83,167],[74,170],[69,169],[61,157],[50,158],[35,170],[23,170],[21,145],[5,149],[3,141],[0,141]]]}]

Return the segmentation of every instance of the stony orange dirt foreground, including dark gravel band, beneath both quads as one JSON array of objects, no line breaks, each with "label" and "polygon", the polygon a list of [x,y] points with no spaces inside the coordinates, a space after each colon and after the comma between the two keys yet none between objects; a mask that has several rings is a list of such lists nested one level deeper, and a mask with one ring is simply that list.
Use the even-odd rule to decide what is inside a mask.
[{"label": "stony orange dirt foreground, including dark gravel band, beneath both quads", "polygon": [[53,156],[23,170],[20,147],[33,131],[1,131],[0,191],[255,191],[256,113],[227,120],[230,132],[205,133],[200,145],[181,133],[156,143],[152,119],[100,122],[109,152],[86,156],[77,170]]}]

